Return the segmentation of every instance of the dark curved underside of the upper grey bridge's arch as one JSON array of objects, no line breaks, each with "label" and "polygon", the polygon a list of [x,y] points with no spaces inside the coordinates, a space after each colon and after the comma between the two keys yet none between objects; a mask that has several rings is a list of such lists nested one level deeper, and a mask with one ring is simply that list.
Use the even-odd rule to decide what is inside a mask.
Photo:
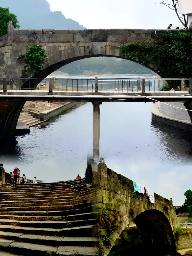
[{"label": "dark curved underside of the upper grey bridge's arch", "polygon": [[[93,57],[114,57],[114,58],[121,58],[121,59],[126,59],[126,60],[130,60],[132,62],[134,62],[133,59],[131,58],[126,58],[126,57],[122,57],[122,56],[113,56],[113,55],[106,55],[106,54],[90,54],[90,55],[84,55],[84,56],[76,56],[76,57],[72,57],[72,58],[68,58],[68,59],[64,59],[60,62],[57,62],[53,65],[46,65],[47,67],[41,71],[40,73],[38,74],[35,74],[33,76],[33,78],[45,78],[47,76],[49,76],[50,74],[52,74],[54,71],[58,70],[59,68],[67,65],[67,64],[70,64],[71,62],[75,62],[75,61],[78,61],[78,60],[81,60],[81,59],[87,59],[87,58],[93,58]],[[137,62],[136,62],[137,63]],[[140,63],[138,63],[140,64]],[[150,70],[154,71],[157,75],[161,76],[161,74],[156,71],[155,69],[147,66],[147,65],[143,65],[143,64],[140,64],[146,68],[149,68]],[[34,81],[30,81],[30,84],[29,82],[25,82],[23,83],[23,85],[21,86],[22,89],[29,89],[29,88],[35,88],[39,83],[41,83],[42,79],[39,79],[39,80],[34,80]]]}]

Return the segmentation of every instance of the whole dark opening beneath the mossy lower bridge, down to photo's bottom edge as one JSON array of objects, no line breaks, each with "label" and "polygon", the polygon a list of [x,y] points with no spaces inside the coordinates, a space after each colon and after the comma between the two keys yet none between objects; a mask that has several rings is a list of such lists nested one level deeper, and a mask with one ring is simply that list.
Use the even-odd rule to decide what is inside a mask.
[{"label": "whole dark opening beneath the mossy lower bridge, down to photo's bottom edge", "polygon": [[175,238],[166,215],[155,209],[137,215],[116,240],[109,256],[144,253],[148,256],[165,255],[176,252]]}]

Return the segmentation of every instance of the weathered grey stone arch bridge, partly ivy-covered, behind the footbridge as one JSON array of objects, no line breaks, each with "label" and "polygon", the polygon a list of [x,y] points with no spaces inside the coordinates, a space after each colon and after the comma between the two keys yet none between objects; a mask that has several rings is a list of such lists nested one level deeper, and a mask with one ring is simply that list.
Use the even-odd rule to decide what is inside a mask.
[{"label": "weathered grey stone arch bridge, partly ivy-covered, behind the footbridge", "polygon": [[[44,78],[79,59],[119,57],[120,47],[124,43],[139,39],[154,41],[155,35],[156,32],[150,29],[25,30],[14,29],[10,22],[8,34],[0,38],[0,77],[22,76],[24,62],[18,61],[17,57],[20,53],[26,53],[32,44],[42,46],[49,57],[45,59],[44,70],[35,75]],[[157,67],[146,67],[158,73]],[[21,86],[25,88],[25,85]]]}]

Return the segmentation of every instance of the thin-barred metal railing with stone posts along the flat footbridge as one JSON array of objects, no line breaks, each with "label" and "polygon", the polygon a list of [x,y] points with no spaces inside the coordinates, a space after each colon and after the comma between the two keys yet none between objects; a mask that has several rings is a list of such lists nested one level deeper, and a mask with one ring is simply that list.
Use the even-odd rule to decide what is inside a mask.
[{"label": "thin-barred metal railing with stone posts along the flat footbridge", "polygon": [[1,92],[189,92],[192,79],[176,78],[0,78]]}]

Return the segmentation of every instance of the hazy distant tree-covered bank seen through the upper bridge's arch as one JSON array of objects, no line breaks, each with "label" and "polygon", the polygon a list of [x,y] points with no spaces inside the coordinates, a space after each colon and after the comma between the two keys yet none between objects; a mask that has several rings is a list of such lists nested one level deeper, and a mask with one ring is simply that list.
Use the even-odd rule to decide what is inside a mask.
[{"label": "hazy distant tree-covered bank seen through the upper bridge's arch", "polygon": [[85,70],[97,72],[97,74],[152,74],[149,68],[136,62],[113,57],[82,59],[59,69],[59,71],[69,75],[82,75]]}]

